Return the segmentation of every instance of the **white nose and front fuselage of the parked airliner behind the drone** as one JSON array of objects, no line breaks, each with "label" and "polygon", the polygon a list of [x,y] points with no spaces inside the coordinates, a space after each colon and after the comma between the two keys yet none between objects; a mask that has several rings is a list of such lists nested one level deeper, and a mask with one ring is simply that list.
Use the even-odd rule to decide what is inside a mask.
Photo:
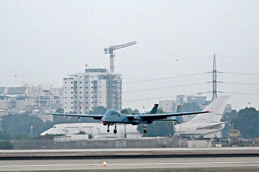
[{"label": "white nose and front fuselage of the parked airliner behind the drone", "polygon": [[[126,124],[126,134],[128,138],[131,137],[142,137],[142,135],[137,131],[137,126],[132,126],[130,124]],[[80,131],[84,131],[86,134],[92,134],[93,137],[99,137],[99,129],[100,129],[100,137],[115,137],[115,134],[110,132],[107,133],[107,127],[103,126],[103,124],[99,123],[73,123],[73,124],[56,124],[47,131],[44,131],[40,135],[45,134],[65,134],[73,135],[77,134]],[[116,137],[123,137],[125,134],[124,124],[117,124],[117,134]]]}]

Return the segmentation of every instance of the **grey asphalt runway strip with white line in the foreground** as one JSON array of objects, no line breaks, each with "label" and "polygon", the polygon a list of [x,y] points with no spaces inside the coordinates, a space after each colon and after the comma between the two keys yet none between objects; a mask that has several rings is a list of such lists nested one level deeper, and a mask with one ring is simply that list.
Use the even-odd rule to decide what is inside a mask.
[{"label": "grey asphalt runway strip with white line in the foreground", "polygon": [[[151,156],[152,157],[152,156]],[[244,169],[259,170],[259,157],[232,158],[134,158],[134,159],[57,159],[57,160],[2,160],[0,171],[52,171],[52,170],[130,170],[155,169],[154,171],[179,169]],[[103,162],[107,162],[106,167]],[[248,168],[249,167],[249,168]],[[232,170],[233,171],[233,170]],[[242,171],[242,170],[241,170]]]}]

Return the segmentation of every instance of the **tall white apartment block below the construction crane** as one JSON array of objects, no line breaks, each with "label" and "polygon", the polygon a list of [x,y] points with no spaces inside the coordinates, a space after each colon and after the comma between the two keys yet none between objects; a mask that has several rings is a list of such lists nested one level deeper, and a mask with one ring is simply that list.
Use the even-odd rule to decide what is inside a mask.
[{"label": "tall white apartment block below the construction crane", "polygon": [[122,75],[107,69],[85,69],[63,80],[65,113],[88,114],[96,106],[122,108]]}]

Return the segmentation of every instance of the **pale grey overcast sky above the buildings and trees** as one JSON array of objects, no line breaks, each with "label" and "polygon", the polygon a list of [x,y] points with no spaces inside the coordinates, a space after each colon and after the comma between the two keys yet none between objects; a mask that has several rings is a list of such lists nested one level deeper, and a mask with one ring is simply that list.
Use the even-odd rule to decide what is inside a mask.
[{"label": "pale grey overcast sky above the buildings and trees", "polygon": [[[114,70],[122,73],[124,92],[212,81],[212,74],[205,74],[127,84],[212,71],[214,53],[253,57],[217,56],[218,71],[259,73],[258,1],[0,2],[0,86],[26,81],[61,87],[63,77],[84,72],[85,64],[109,68],[103,48],[130,41],[137,44],[115,51]],[[210,57],[196,58],[203,56]],[[217,79],[259,84],[258,75]],[[217,89],[259,93],[259,85],[218,84]],[[159,100],[206,91],[212,84],[123,93],[123,108],[149,110]],[[258,95],[228,95],[233,109],[259,108]]]}]

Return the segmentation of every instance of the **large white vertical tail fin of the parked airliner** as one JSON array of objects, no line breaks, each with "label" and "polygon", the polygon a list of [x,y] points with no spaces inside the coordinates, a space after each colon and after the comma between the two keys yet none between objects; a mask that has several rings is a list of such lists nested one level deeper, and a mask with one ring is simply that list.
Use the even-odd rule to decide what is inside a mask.
[{"label": "large white vertical tail fin of the parked airliner", "polygon": [[227,104],[229,95],[219,96],[211,102],[203,111],[212,111],[212,113],[201,113],[196,115],[190,123],[210,123],[219,122]]}]

